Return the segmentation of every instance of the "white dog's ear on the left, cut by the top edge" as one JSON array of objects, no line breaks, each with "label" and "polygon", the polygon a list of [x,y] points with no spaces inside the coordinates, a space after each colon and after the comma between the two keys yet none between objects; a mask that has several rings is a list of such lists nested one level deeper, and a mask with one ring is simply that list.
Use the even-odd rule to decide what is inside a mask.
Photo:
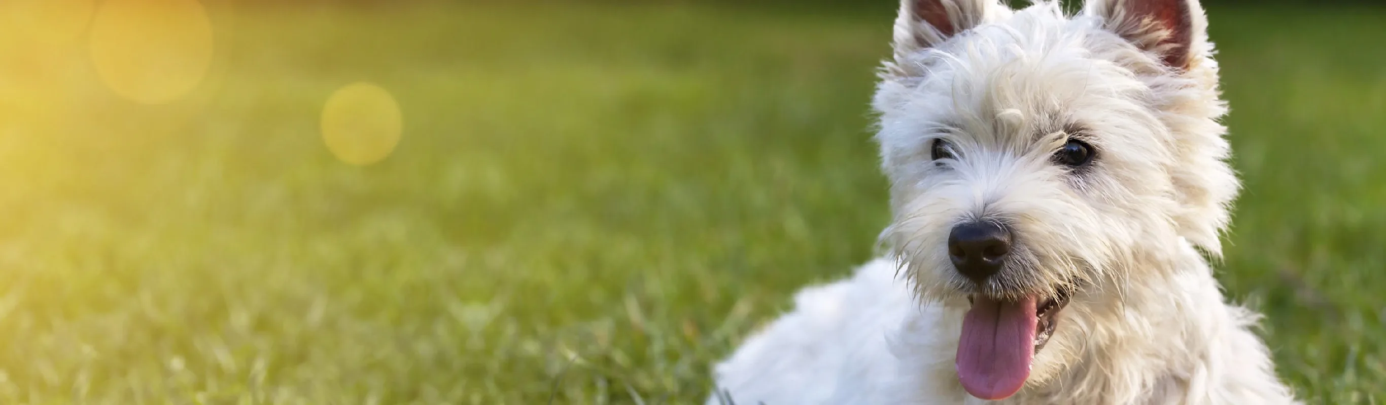
[{"label": "white dog's ear on the left, cut by the top edge", "polygon": [[1009,11],[997,0],[902,0],[895,18],[895,61]]}]

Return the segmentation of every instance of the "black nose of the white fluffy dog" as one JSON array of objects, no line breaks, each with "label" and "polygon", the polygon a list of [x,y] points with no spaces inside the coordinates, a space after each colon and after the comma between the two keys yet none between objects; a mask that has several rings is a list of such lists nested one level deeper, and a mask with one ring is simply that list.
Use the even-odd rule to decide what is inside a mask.
[{"label": "black nose of the white fluffy dog", "polygon": [[948,257],[963,276],[985,282],[1010,253],[1010,231],[994,221],[966,223],[948,235]]}]

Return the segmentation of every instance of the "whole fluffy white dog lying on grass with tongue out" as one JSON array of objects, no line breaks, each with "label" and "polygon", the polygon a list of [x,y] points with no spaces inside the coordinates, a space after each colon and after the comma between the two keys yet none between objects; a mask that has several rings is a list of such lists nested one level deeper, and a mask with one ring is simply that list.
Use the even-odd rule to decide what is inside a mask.
[{"label": "whole fluffy white dog lying on grass with tongue out", "polygon": [[1203,254],[1238,180],[1196,0],[905,0],[873,108],[890,258],[708,404],[1297,404]]}]

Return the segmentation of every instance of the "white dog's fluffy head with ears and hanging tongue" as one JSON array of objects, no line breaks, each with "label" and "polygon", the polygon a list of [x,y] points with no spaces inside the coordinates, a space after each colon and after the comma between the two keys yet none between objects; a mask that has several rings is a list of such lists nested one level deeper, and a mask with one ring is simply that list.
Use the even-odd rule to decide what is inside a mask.
[{"label": "white dog's fluffy head with ears and hanging tongue", "polygon": [[905,0],[875,109],[922,299],[966,308],[962,386],[1005,398],[1100,339],[1123,296],[1218,253],[1238,182],[1196,0],[1013,11]]}]

